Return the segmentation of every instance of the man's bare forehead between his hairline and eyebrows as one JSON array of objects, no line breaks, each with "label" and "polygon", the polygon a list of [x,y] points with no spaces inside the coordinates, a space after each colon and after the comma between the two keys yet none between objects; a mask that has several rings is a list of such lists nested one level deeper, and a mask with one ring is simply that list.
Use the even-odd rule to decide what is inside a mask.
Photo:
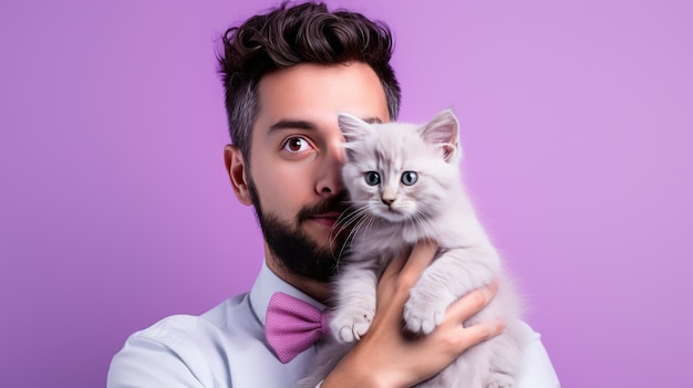
[{"label": "man's bare forehead between his hairline and eyebrows", "polygon": [[266,75],[258,85],[256,126],[286,119],[337,124],[337,113],[390,120],[380,78],[365,63],[298,64]]}]

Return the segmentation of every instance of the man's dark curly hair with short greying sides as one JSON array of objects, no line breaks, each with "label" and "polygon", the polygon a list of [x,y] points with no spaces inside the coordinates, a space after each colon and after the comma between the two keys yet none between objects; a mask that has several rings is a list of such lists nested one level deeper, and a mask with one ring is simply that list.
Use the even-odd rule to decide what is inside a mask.
[{"label": "man's dark curly hair with short greying sides", "polygon": [[250,160],[250,133],[258,114],[258,83],[267,74],[299,63],[369,64],[385,91],[390,117],[397,117],[401,91],[390,65],[393,40],[382,22],[345,10],[331,12],[324,3],[289,6],[285,1],[267,14],[228,29],[223,42],[218,61],[229,133],[246,162]]}]

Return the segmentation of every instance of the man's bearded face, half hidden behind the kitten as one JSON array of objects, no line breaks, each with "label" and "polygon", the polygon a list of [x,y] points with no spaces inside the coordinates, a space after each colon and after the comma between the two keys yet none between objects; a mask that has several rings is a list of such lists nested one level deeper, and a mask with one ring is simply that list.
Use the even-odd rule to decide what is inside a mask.
[{"label": "man's bearded face, half hidden behind the kitten", "polygon": [[344,244],[332,232],[346,198],[338,112],[390,119],[366,64],[299,64],[265,76],[246,171],[268,264],[321,282],[334,273]]}]

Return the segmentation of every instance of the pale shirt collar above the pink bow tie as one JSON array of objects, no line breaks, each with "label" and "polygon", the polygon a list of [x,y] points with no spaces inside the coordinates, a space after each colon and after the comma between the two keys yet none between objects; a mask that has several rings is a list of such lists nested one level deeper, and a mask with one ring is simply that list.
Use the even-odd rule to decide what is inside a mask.
[{"label": "pale shirt collar above the pink bow tie", "polygon": [[260,319],[262,326],[265,326],[265,314],[267,313],[267,305],[270,297],[276,292],[283,292],[306,303],[310,303],[319,310],[324,310],[325,305],[302,293],[291,284],[281,280],[272,270],[267,266],[267,261],[262,261],[262,268],[258,274],[252,289],[250,290],[250,306],[255,315]]}]

